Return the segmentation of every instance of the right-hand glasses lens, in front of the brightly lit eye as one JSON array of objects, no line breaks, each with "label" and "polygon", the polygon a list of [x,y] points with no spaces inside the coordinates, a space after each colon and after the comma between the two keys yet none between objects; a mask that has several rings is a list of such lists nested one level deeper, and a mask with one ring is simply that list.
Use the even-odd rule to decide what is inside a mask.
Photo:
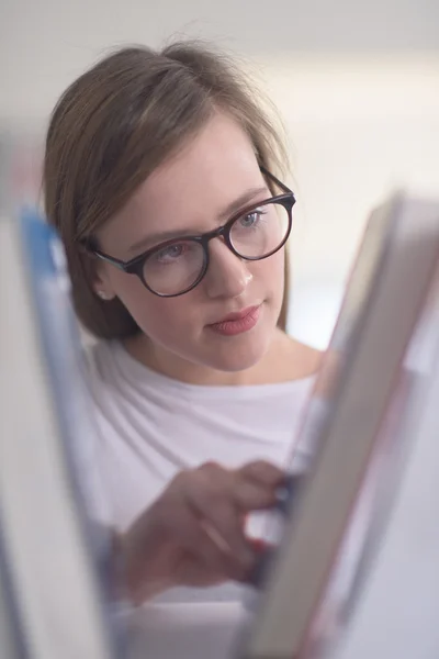
[{"label": "right-hand glasses lens, in front of the brightly lit eye", "polygon": [[289,227],[289,212],[282,204],[262,204],[234,222],[230,243],[244,258],[263,258],[281,247]]}]

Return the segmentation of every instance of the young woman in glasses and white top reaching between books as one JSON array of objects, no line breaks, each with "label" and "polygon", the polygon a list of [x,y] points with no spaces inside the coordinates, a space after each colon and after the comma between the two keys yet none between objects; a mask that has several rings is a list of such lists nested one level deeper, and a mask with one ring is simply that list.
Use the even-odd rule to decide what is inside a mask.
[{"label": "young woman in glasses and white top reaching between books", "polygon": [[[282,143],[223,55],[116,52],[52,116],[46,213],[99,340],[99,462],[138,600],[245,580],[318,367],[290,338]],[[204,596],[204,595],[200,595]]]}]

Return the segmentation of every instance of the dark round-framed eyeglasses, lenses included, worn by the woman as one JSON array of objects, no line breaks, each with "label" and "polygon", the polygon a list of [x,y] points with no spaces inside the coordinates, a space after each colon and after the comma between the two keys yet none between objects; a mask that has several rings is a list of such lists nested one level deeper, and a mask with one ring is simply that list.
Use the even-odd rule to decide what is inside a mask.
[{"label": "dark round-framed eyeglasses, lenses included, worn by the woman", "polygon": [[109,256],[90,243],[86,244],[86,249],[120,270],[136,275],[160,298],[182,295],[200,283],[210,264],[209,243],[214,238],[222,237],[230,252],[244,260],[268,258],[279,252],[290,236],[295,197],[272,174],[262,168],[261,171],[283,193],[239,211],[218,228],[196,236],[171,238],[128,261]]}]

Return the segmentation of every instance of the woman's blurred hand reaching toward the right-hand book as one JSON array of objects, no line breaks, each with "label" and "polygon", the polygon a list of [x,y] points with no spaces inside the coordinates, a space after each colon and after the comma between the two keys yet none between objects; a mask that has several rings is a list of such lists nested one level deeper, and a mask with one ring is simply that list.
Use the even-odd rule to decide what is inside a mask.
[{"label": "woman's blurred hand reaching toward the right-hand book", "polygon": [[272,506],[284,473],[269,462],[214,462],[180,472],[121,538],[125,584],[136,604],[175,585],[246,581],[257,549],[245,518]]}]

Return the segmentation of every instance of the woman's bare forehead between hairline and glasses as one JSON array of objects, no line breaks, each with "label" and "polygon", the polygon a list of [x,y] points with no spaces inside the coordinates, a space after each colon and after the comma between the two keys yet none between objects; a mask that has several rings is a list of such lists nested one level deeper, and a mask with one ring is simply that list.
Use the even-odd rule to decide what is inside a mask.
[{"label": "woman's bare forehead between hairline and glasses", "polygon": [[162,231],[209,231],[228,204],[261,185],[249,137],[218,113],[148,177],[104,233],[130,242]]}]

